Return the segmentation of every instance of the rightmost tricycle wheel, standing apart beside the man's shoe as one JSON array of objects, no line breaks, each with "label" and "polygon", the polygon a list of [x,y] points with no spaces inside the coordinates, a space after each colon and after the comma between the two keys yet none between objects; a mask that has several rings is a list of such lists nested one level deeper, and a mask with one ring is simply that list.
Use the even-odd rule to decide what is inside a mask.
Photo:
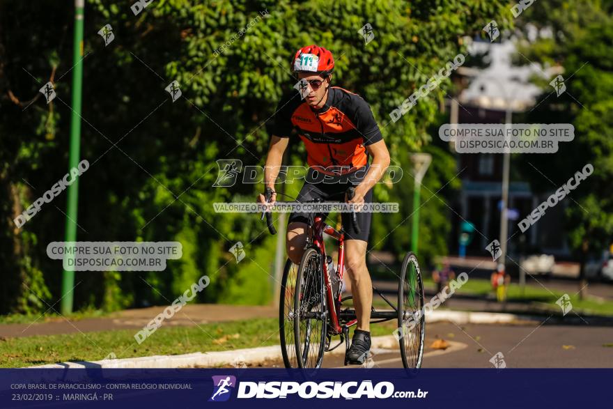
[{"label": "rightmost tricycle wheel, standing apart beside the man's shoe", "polygon": [[398,341],[406,369],[421,367],[425,337],[424,283],[421,281],[417,256],[408,252],[403,261],[398,286]]}]

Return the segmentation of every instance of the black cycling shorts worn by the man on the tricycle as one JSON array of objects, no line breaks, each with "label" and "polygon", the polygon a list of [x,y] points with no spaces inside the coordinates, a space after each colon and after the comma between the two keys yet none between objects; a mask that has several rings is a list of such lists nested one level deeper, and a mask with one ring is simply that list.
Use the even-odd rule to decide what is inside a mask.
[{"label": "black cycling shorts worn by the man on the tricycle", "polygon": [[[364,172],[365,173],[365,172]],[[305,182],[304,186],[298,194],[297,201],[305,202],[313,199],[321,199],[322,201],[345,201],[345,193],[349,187],[355,186],[355,183],[309,183]],[[373,190],[368,190],[364,195],[365,203],[373,202]],[[325,216],[327,214],[323,213]],[[364,240],[368,241],[368,233],[371,231],[372,213],[356,212],[357,223],[360,232],[357,233],[351,222],[351,213],[341,213],[341,221],[343,230],[345,231],[345,240]],[[288,220],[288,224],[293,222],[301,222],[307,224],[309,221],[308,213],[292,213]]]}]

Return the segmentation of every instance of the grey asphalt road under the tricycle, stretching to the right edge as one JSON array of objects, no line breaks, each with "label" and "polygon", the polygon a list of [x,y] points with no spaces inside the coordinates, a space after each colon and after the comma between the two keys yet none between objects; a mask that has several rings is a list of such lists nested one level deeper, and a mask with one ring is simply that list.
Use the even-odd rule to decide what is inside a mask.
[{"label": "grey asphalt road under the tricycle, stretching to the right edge", "polygon": [[[452,341],[433,350],[435,339]],[[605,346],[608,344],[609,346]],[[426,328],[423,368],[491,368],[504,355],[508,368],[613,368],[613,328],[584,325],[454,325]],[[373,367],[401,368],[398,350],[373,350]],[[283,366],[273,362],[270,366]],[[343,355],[326,355],[324,367],[343,366]],[[360,366],[354,366],[360,367]]]}]

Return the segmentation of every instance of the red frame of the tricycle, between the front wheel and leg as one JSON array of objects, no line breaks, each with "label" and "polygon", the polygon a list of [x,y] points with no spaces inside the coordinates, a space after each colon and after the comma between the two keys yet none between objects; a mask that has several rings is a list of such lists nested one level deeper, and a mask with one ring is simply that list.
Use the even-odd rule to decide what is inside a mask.
[{"label": "red frame of the tricycle, between the front wheel and leg", "polygon": [[[329,308],[330,324],[332,325],[332,330],[329,332],[332,332],[332,334],[334,335],[341,334],[341,332],[343,332],[343,327],[341,326],[341,323],[339,321],[341,294],[339,293],[339,298],[337,300],[334,300],[334,294],[332,293],[332,283],[330,281],[330,272],[328,271],[328,265],[326,263],[327,257],[325,252],[325,245],[323,242],[323,233],[326,233],[329,237],[339,240],[339,280],[343,279],[343,273],[345,272],[345,233],[343,233],[342,231],[336,231],[334,227],[330,226],[329,224],[326,224],[325,220],[320,216],[315,217],[315,222],[313,226],[311,226],[311,229],[313,229],[312,235],[308,235],[307,237],[312,237],[313,241],[312,243],[307,242],[307,245],[313,244],[316,245],[318,249],[320,249],[321,263],[323,265],[324,281],[326,286],[327,304],[334,306],[334,308]],[[345,325],[347,327],[350,327],[352,325],[355,325],[356,323],[357,318],[354,318],[351,321],[348,321]]]}]

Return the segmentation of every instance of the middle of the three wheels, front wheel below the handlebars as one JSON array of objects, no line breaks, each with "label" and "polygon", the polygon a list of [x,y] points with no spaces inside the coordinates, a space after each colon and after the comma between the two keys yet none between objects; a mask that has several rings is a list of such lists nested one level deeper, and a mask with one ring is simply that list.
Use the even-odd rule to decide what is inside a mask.
[{"label": "middle of the three wheels, front wheel below the handlebars", "polygon": [[323,362],[327,330],[327,304],[323,268],[318,249],[302,255],[294,294],[294,337],[299,368],[319,368]]}]

